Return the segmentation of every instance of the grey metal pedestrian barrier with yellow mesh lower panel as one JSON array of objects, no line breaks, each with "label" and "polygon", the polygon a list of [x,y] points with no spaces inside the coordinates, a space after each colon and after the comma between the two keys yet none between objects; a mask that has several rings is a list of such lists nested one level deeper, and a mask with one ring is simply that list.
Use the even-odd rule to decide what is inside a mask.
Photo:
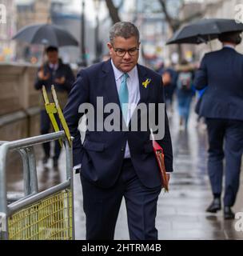
[{"label": "grey metal pedestrian barrier with yellow mesh lower panel", "polygon": [[[61,122],[64,127],[63,119]],[[74,239],[73,159],[68,132],[65,127],[51,134],[0,142],[0,240]],[[39,192],[34,146],[54,140],[65,145],[66,180]],[[22,157],[24,192],[20,195],[6,191],[6,159],[11,150]]]}]

